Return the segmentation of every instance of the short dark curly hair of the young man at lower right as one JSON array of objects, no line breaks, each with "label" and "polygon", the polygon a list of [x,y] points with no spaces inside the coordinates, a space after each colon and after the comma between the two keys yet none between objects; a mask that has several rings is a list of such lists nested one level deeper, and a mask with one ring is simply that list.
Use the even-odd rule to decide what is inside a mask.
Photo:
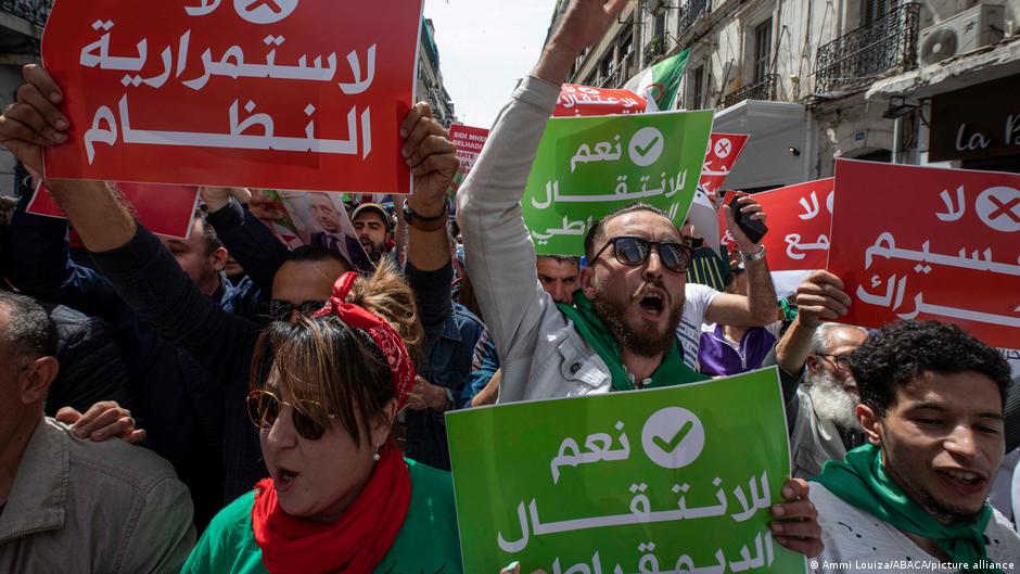
[{"label": "short dark curly hair of the young man at lower right", "polygon": [[923,373],[981,373],[998,387],[1003,405],[1009,365],[997,350],[955,324],[897,321],[871,333],[850,359],[860,401],[884,417],[896,391]]}]

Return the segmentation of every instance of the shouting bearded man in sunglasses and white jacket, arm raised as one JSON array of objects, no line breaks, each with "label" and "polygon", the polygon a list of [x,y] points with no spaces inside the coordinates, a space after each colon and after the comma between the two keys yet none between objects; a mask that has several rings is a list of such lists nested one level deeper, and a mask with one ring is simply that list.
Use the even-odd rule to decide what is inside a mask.
[{"label": "shouting bearded man in sunglasses and white jacket, arm raised", "polygon": [[[684,365],[675,341],[692,250],[668,217],[636,204],[595,224],[585,240],[588,266],[581,273],[574,306],[554,305],[541,289],[535,247],[521,218],[528,166],[560,84],[581,51],[601,36],[626,3],[569,4],[538,65],[501,112],[457,195],[467,269],[500,357],[501,403],[703,380]],[[435,214],[443,197],[419,201],[431,207],[428,214]],[[745,197],[742,211],[760,212],[752,203]],[[727,216],[732,220],[728,209]],[[731,230],[741,250],[754,259],[749,272],[752,268],[764,272],[767,280],[763,253],[739,228]],[[767,302],[769,318],[775,317],[775,301],[773,294]],[[791,481],[783,493],[787,500],[798,501],[780,505],[782,510],[774,509],[776,515],[804,520],[783,522],[783,534],[776,540],[803,553],[817,553],[819,532],[807,484]]]}]

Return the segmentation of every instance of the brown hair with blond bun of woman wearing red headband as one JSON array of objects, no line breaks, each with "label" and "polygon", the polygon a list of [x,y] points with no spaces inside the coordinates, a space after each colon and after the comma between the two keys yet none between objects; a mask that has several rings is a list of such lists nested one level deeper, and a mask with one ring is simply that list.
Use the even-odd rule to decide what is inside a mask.
[{"label": "brown hair with blond bun of woman wearing red headband", "polygon": [[[392,263],[380,262],[374,273],[359,277],[347,303],[388,321],[412,358],[420,353],[424,333],[415,295]],[[264,388],[270,379],[285,382],[295,397],[319,405],[308,414],[326,426],[335,416],[357,444],[395,397],[382,352],[367,333],[335,316],[270,323],[256,343],[251,373],[251,388]]]}]

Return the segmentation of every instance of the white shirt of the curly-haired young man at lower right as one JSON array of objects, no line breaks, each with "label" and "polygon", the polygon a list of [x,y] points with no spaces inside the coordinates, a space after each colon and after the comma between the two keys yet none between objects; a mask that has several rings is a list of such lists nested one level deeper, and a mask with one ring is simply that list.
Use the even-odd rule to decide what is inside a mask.
[{"label": "white shirt of the curly-haired young man at lower right", "polygon": [[[828,488],[811,483],[811,501],[818,509],[825,550],[807,560],[812,574],[887,572],[889,570],[956,573],[887,522],[844,502]],[[989,558],[1006,563],[1004,572],[1020,566],[1020,536],[997,510],[984,530]],[[1010,566],[1009,563],[1012,562]],[[965,571],[967,572],[967,571]]]}]

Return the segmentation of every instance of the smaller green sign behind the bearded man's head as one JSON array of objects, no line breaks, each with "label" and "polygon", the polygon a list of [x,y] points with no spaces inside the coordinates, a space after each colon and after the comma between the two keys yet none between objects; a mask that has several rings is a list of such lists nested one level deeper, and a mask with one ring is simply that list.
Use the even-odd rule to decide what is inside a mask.
[{"label": "smaller green sign behind the bearded man's head", "polygon": [[712,111],[550,119],[521,200],[538,254],[584,255],[591,224],[636,202],[683,224],[712,119]]}]

